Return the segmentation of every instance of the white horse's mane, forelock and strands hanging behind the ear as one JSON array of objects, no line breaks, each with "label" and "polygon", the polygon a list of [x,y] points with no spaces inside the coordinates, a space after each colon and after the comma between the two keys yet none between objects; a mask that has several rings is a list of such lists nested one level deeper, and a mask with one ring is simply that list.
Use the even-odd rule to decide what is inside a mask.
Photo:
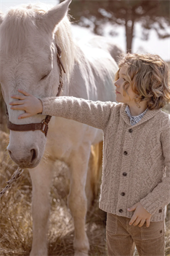
[{"label": "white horse's mane, forelock and strands hanging behind the ear", "polygon": [[[28,4],[9,9],[0,29],[3,34],[1,43],[5,53],[12,54],[23,51],[31,33],[37,27],[36,21],[41,20],[43,15],[52,6],[46,4]],[[71,34],[70,21],[65,17],[55,28],[54,39],[62,48],[62,63],[65,66],[67,77],[73,71],[74,44]]]}]

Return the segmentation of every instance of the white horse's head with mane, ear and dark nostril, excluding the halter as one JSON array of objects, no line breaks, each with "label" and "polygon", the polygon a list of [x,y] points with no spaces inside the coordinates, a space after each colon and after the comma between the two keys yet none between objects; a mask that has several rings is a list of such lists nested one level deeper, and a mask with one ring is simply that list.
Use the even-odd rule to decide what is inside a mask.
[{"label": "white horse's head with mane, ear and dark nostril, excluding the halter", "polygon": [[[63,52],[67,50],[63,53],[66,63],[71,54],[67,45],[71,41],[66,17],[69,4],[70,0],[65,0],[48,10],[43,5],[28,5],[10,9],[7,15],[0,13],[0,83],[9,120],[14,124],[41,123],[44,119],[41,115],[17,119],[21,112],[10,109],[9,102],[19,88],[37,97],[57,94],[60,72],[54,42]],[[69,74],[71,65],[65,68]],[[10,131],[8,150],[21,168],[33,168],[41,160],[45,144],[41,131]]]}]

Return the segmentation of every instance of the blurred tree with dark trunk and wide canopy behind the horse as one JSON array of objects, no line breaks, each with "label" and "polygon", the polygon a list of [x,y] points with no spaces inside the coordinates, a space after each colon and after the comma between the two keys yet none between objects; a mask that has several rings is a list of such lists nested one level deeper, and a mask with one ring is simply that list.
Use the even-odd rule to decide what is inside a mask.
[{"label": "blurred tree with dark trunk and wide canopy behind the horse", "polygon": [[[170,0],[74,0],[70,5],[70,15],[78,25],[92,27],[95,34],[102,35],[106,23],[125,26],[128,52],[137,21],[143,28],[142,39],[148,39],[150,28],[155,29],[159,38],[170,36],[169,12]],[[115,33],[113,28],[110,34]]]}]

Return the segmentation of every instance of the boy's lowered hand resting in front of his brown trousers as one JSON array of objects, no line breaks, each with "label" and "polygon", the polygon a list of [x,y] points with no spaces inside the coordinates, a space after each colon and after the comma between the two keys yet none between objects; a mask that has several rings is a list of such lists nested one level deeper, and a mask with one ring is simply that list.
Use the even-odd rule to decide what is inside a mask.
[{"label": "boy's lowered hand resting in front of his brown trousers", "polygon": [[132,225],[134,223],[134,226],[138,225],[139,227],[142,227],[144,225],[146,220],[146,226],[147,228],[150,226],[150,218],[152,214],[147,212],[145,208],[142,206],[142,203],[136,203],[134,206],[131,206],[129,209],[127,209],[129,212],[134,211],[134,215],[131,217],[131,220],[129,222],[129,225]]}]

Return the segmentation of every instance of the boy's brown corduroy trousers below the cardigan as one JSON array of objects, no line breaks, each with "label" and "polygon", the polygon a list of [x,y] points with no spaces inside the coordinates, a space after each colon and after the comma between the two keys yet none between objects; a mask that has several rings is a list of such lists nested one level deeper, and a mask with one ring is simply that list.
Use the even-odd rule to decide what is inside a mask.
[{"label": "boy's brown corduroy trousers below the cardigan", "polygon": [[165,223],[150,222],[139,226],[129,225],[131,219],[107,214],[106,238],[108,256],[133,256],[134,245],[139,256],[165,256]]}]

